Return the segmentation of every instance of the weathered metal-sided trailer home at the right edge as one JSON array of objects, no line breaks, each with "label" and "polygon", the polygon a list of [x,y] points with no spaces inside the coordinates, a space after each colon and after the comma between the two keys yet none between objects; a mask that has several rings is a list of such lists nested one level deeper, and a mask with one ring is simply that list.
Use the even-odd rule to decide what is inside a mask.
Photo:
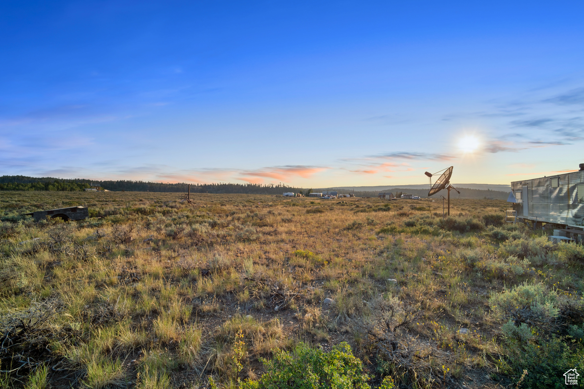
[{"label": "weathered metal-sided trailer home at the right edge", "polygon": [[513,203],[517,219],[552,223],[564,228],[584,226],[584,163],[578,171],[554,176],[514,181],[508,202]]}]

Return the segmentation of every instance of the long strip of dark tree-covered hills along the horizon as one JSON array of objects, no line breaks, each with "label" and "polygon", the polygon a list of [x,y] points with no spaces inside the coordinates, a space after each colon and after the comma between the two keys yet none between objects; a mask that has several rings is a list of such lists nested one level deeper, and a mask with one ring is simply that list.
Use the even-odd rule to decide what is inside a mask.
[{"label": "long strip of dark tree-covered hills along the horizon", "polygon": [[[0,190],[23,191],[80,191],[88,184],[100,186],[110,191],[128,192],[186,192],[188,184],[165,184],[148,181],[98,181],[86,178],[62,179],[54,177],[27,177],[27,176],[2,176],[0,177]],[[492,198],[506,199],[509,195],[510,185],[499,184],[453,184],[460,191],[451,191],[451,198]],[[242,193],[242,194],[271,194],[281,195],[283,192],[302,192],[306,194],[307,188],[288,187],[286,185],[260,185],[260,184],[192,184],[192,193]],[[426,198],[428,185],[378,185],[371,187],[334,187],[313,188],[313,192],[338,191],[339,193],[354,193],[356,197],[377,197],[379,192],[392,192],[394,195],[412,194]],[[442,191],[432,198],[446,197],[447,192]]]}]

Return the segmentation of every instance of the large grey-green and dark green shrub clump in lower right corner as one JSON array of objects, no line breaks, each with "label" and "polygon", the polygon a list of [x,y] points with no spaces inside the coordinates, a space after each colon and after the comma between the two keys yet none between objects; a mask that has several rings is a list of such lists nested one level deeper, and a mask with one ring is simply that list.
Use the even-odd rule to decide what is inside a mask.
[{"label": "large grey-green and dark green shrub clump in lower right corner", "polygon": [[584,367],[582,299],[543,283],[524,283],[496,293],[490,303],[496,314],[509,318],[501,328],[505,357],[497,362],[499,372],[519,377],[527,370],[523,388],[553,388],[564,386],[566,370]]}]

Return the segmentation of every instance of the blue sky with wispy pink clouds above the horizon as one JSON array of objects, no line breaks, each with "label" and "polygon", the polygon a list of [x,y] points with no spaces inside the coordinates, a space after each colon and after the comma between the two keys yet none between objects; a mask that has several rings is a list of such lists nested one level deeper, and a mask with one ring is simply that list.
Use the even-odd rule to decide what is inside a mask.
[{"label": "blue sky with wispy pink clouds above the horizon", "polygon": [[576,170],[583,8],[3,2],[0,169],[302,187]]}]

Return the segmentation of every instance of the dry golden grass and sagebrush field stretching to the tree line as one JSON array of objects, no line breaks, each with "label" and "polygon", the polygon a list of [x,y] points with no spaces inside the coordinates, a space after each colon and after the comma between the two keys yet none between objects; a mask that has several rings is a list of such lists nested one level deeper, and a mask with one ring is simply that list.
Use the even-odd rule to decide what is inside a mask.
[{"label": "dry golden grass and sagebrush field stretching to the tree line", "polygon": [[[504,201],[443,219],[416,200],[193,198],[1,192],[0,386],[270,387],[274,356],[343,342],[370,387],[556,387],[584,367],[584,250],[505,224]],[[76,205],[91,218],[22,216]]]}]

